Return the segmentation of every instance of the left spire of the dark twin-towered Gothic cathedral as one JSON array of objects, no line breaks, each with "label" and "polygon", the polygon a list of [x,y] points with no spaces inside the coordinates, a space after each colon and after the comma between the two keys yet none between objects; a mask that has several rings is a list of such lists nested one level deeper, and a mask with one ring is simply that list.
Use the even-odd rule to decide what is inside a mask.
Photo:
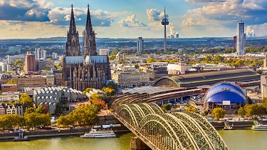
[{"label": "left spire of the dark twin-towered Gothic cathedral", "polygon": [[78,31],[76,31],[73,5],[71,5],[70,29],[68,31],[66,42],[66,56],[80,56],[79,34]]}]

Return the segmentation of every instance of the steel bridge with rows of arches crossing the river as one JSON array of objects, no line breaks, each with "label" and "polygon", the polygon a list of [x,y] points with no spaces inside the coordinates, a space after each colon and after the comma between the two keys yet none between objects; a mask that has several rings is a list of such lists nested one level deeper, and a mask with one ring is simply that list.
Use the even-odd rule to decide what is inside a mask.
[{"label": "steel bridge with rows of arches crossing the river", "polygon": [[122,104],[114,116],[151,149],[229,149],[216,129],[199,114],[167,114],[150,103]]}]

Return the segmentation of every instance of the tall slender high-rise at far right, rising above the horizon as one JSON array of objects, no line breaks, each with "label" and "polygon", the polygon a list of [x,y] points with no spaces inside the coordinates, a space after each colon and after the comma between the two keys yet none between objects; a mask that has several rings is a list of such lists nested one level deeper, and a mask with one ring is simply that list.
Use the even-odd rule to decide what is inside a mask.
[{"label": "tall slender high-rise at far right, rising above the horizon", "polygon": [[246,54],[245,39],[246,39],[245,24],[244,22],[242,22],[241,19],[241,21],[237,24],[237,36],[236,36],[236,52],[237,55],[239,56],[243,56]]}]

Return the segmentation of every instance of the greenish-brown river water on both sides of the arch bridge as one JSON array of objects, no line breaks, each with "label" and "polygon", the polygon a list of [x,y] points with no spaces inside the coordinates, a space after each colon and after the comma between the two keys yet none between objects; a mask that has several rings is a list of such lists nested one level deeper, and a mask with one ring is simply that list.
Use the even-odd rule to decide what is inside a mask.
[{"label": "greenish-brown river water on both sides of the arch bridge", "polygon": [[[267,149],[267,131],[253,131],[248,128],[224,131],[219,134],[231,150]],[[111,139],[81,139],[80,136],[57,136],[31,138],[31,141],[0,140],[4,150],[129,150],[132,133],[117,134]]]}]

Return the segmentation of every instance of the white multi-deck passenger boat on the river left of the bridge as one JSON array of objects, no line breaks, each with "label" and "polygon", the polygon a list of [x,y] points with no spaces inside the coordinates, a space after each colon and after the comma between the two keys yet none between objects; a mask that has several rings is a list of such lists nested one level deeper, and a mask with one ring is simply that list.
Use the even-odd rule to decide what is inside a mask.
[{"label": "white multi-deck passenger boat on the river left of the bridge", "polygon": [[80,136],[81,138],[112,138],[116,137],[112,130],[97,130],[92,129],[89,133]]}]

